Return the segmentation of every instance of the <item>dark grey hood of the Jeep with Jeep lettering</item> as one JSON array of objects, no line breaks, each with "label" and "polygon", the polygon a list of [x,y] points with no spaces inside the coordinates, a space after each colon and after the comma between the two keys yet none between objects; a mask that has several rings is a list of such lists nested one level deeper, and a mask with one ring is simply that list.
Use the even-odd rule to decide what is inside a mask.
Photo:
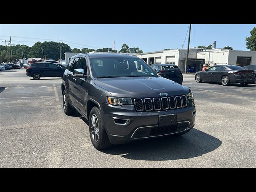
[{"label": "dark grey hood of the Jeep with Jeep lettering", "polygon": [[94,83],[109,91],[112,96],[146,98],[176,96],[189,92],[189,88],[163,77],[101,78]]}]

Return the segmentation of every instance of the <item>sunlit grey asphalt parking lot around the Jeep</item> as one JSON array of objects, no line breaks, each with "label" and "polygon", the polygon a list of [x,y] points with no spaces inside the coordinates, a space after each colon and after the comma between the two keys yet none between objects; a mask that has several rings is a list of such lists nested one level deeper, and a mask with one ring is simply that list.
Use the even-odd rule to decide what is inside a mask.
[{"label": "sunlit grey asphalt parking lot around the Jeep", "polygon": [[141,140],[98,151],[87,121],[66,116],[61,78],[33,80],[26,69],[0,71],[1,168],[256,167],[256,85],[196,83],[196,125],[177,137]]}]

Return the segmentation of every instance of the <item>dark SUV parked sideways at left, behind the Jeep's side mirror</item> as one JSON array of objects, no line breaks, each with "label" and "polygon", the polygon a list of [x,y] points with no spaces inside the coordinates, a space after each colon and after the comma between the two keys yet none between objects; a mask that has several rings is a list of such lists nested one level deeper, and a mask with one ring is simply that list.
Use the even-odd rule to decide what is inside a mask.
[{"label": "dark SUV parked sideways at left, behind the Jeep's side mirror", "polygon": [[62,77],[66,68],[54,63],[32,63],[26,69],[27,76],[38,80],[41,77]]}]

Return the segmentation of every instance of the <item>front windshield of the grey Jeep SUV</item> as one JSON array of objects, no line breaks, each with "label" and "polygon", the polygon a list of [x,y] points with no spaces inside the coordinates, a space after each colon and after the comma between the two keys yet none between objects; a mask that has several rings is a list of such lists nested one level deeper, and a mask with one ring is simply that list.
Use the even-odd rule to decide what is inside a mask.
[{"label": "front windshield of the grey Jeep SUV", "polygon": [[92,76],[96,78],[147,76],[157,74],[139,58],[92,58]]}]

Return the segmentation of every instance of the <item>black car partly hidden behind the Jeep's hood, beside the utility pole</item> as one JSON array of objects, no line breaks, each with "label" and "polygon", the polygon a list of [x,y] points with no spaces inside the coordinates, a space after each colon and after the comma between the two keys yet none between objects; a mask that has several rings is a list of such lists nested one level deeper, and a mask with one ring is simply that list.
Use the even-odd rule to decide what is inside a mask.
[{"label": "black car partly hidden behind the Jeep's hood, beside the utility pole", "polygon": [[183,75],[178,66],[174,64],[152,64],[150,65],[160,76],[175,81],[179,84],[183,82]]}]

